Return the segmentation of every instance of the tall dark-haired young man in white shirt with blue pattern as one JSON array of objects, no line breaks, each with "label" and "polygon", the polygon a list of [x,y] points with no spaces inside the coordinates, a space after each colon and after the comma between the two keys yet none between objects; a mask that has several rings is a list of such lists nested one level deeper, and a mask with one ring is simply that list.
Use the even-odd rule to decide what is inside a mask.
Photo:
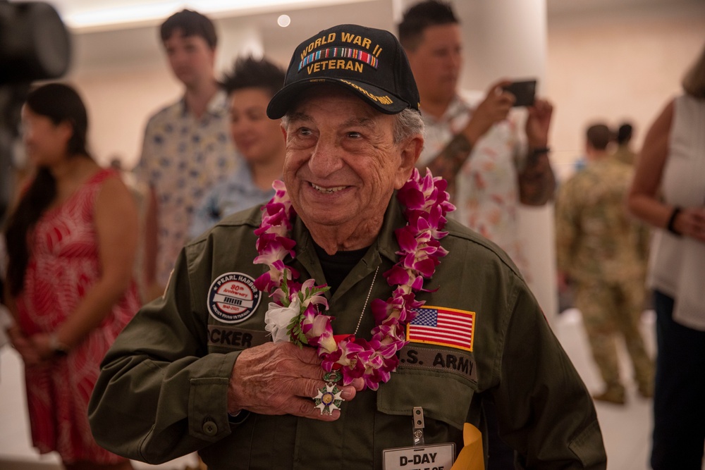
[{"label": "tall dark-haired young man in white shirt with blue pattern", "polygon": [[226,92],[214,73],[218,38],[209,18],[183,10],[161,24],[161,42],[184,94],[149,118],[135,174],[151,188],[145,220],[147,299],[164,292],[192,213],[238,166]]}]

